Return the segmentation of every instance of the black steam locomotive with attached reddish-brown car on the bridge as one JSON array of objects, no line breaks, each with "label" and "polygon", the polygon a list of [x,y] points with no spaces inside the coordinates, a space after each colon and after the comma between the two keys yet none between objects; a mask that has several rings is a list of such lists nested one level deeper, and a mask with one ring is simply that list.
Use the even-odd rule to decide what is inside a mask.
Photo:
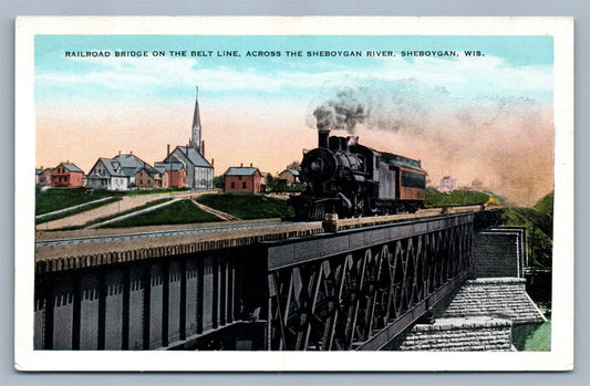
[{"label": "black steam locomotive with attached reddish-brown car on the bridge", "polygon": [[319,132],[318,148],[304,153],[300,178],[307,189],[289,199],[300,220],[415,212],[424,208],[426,171],[421,161],[377,152],[358,137]]}]

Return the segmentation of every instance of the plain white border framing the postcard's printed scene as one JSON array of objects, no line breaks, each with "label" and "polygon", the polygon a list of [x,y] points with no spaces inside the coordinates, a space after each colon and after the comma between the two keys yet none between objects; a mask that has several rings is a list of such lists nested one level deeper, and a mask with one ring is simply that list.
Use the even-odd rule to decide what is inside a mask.
[{"label": "plain white border framing the postcard's printed scene", "polygon": [[[458,20],[460,19],[460,21]],[[35,34],[470,34],[555,38],[551,352],[33,351]],[[24,17],[15,44],[14,366],[25,371],[563,371],[573,366],[573,20],[387,17]],[[558,262],[558,264],[556,263]],[[556,285],[557,284],[557,285]]]}]

